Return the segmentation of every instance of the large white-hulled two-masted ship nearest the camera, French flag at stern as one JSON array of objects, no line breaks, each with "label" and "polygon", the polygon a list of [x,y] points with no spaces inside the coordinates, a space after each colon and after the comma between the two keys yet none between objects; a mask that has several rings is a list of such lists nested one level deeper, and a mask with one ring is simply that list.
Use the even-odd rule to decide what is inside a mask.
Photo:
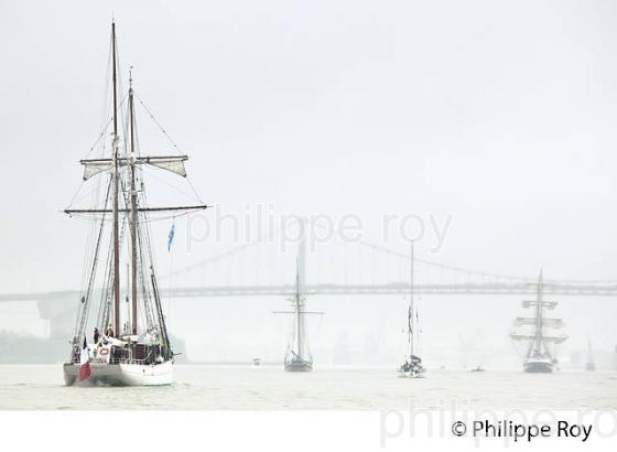
[{"label": "large white-hulled two-masted ship nearest the camera, French flag at stern", "polygon": [[[121,89],[116,23],[111,24],[110,53],[111,99],[97,140],[99,154],[80,161],[83,186],[90,184],[94,206],[72,206],[65,211],[69,216],[90,222],[91,247],[86,249],[71,354],[63,366],[64,379],[67,385],[82,380],[110,386],[169,385],[173,381],[174,352],[159,291],[150,227],[164,215],[175,218],[207,206],[201,201],[172,206],[150,206],[147,202],[149,177],[145,174],[162,171],[186,177],[187,157],[141,154],[136,97],[142,101],[133,90],[132,75],[128,92]],[[155,119],[154,122],[159,126]],[[161,131],[169,138],[162,128]],[[154,179],[161,179],[161,174]],[[195,198],[198,200],[196,193]],[[174,228],[175,223],[169,233],[167,247]]]}]

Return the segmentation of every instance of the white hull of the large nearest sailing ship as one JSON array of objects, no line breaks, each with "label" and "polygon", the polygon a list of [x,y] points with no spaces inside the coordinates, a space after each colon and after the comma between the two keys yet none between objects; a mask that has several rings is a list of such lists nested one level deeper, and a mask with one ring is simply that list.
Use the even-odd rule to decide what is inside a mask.
[{"label": "white hull of the large nearest sailing ship", "polygon": [[[64,381],[74,385],[79,381],[79,364],[64,364]],[[173,363],[160,364],[104,364],[90,363],[90,376],[82,385],[101,386],[163,386],[173,383]]]}]

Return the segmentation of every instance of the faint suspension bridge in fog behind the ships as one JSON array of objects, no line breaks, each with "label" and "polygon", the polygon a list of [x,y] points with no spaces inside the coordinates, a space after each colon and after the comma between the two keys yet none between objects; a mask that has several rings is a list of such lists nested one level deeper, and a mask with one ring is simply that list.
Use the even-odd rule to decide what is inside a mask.
[{"label": "faint suspension bridge in fog behind the ships", "polygon": [[[225,297],[289,297],[294,293],[295,260],[306,295],[407,295],[411,256],[369,243],[324,252],[281,252],[260,241],[224,250],[207,259],[163,275],[164,299]],[[326,244],[327,245],[327,244]],[[325,246],[325,245],[324,245]],[[269,249],[269,252],[266,250]],[[273,251],[273,252],[272,252]],[[336,254],[337,251],[334,251]],[[534,277],[483,272],[414,258],[414,292],[420,295],[533,295]],[[560,297],[615,297],[617,281],[546,279],[544,292]],[[52,331],[67,330],[74,321],[79,290],[0,293],[0,302],[36,302],[40,316]]]}]

